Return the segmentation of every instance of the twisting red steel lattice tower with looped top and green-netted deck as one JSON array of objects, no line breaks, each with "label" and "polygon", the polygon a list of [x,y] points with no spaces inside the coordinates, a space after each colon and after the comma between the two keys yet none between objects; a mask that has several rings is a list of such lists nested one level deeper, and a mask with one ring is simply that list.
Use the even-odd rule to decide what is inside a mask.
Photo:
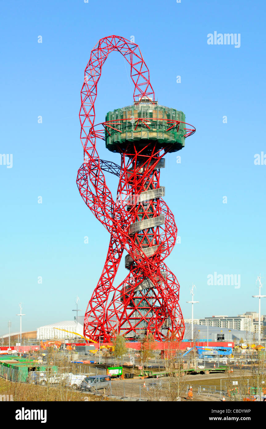
[{"label": "twisting red steel lattice tower with looped top and green-netted deck", "polygon": [[[97,84],[112,51],[119,51],[130,64],[134,104],[108,112],[106,121],[96,125]],[[165,188],[159,179],[164,155],[182,149],[195,129],[185,124],[183,112],[158,105],[138,45],[120,36],[105,37],[93,48],[79,116],[84,148],[77,177],[79,192],[111,235],[105,266],[85,314],[84,336],[108,342],[117,334],[137,340],[149,332],[158,341],[181,340],[185,326],[178,303],[179,283],[164,263],[175,244],[177,228],[162,199]],[[97,138],[120,154],[120,165],[99,158]],[[104,172],[119,177],[116,199]],[[129,273],[117,286],[114,281],[124,250]]]}]

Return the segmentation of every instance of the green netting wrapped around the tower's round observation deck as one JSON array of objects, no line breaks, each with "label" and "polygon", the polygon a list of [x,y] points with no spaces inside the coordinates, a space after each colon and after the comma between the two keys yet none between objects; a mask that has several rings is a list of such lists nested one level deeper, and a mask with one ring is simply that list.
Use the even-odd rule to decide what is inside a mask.
[{"label": "green netting wrapped around the tower's round observation deck", "polygon": [[[184,124],[175,124],[167,131],[173,125],[167,121],[185,122],[185,115],[179,110],[152,104],[132,105],[108,112],[105,121],[117,119],[123,119],[111,124],[111,127],[117,130],[108,126],[105,128],[106,147],[112,152],[118,151],[117,145],[126,147],[132,142],[146,145],[147,140],[161,147],[170,144],[170,152],[179,151],[185,145]],[[145,123],[141,119],[144,119]]]}]

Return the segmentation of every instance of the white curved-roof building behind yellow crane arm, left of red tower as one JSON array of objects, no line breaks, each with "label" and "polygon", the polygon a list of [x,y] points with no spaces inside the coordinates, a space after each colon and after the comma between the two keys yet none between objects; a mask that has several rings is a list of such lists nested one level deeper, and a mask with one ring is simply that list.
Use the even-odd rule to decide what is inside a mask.
[{"label": "white curved-roof building behind yellow crane arm, left of red tower", "polygon": [[[60,329],[65,329],[66,331],[70,332],[65,332]],[[77,326],[74,320],[64,320],[63,322],[51,323],[50,325],[40,326],[37,328],[37,339],[45,340],[53,338],[74,338],[77,336],[74,332],[77,332],[83,336],[83,325],[78,323]]]}]

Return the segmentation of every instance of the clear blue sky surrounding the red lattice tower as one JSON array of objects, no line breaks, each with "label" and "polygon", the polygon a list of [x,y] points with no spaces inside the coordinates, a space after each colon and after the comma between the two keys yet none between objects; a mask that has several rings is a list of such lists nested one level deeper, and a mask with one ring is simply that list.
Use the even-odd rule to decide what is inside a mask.
[{"label": "clear blue sky surrounding the red lattice tower", "polygon": [[[24,330],[71,320],[75,296],[85,311],[101,274],[109,235],[75,181],[83,162],[84,69],[96,42],[111,34],[134,36],[158,103],[182,110],[197,129],[178,152],[181,164],[170,154],[161,170],[181,236],[166,263],[179,280],[184,317],[192,282],[200,301],[195,317],[257,309],[251,295],[257,275],[266,277],[266,165],[254,165],[255,154],[266,154],[265,9],[262,0],[2,3],[0,153],[13,154],[13,166],[0,165],[0,333],[9,319],[12,331],[19,329],[20,301]],[[215,31],[240,33],[240,47],[208,45]],[[128,76],[122,55],[111,54],[97,122],[132,103]],[[102,141],[98,148],[118,162]],[[106,180],[115,192],[117,178]],[[214,272],[241,275],[241,287],[208,286]],[[122,263],[117,284],[126,274]]]}]

